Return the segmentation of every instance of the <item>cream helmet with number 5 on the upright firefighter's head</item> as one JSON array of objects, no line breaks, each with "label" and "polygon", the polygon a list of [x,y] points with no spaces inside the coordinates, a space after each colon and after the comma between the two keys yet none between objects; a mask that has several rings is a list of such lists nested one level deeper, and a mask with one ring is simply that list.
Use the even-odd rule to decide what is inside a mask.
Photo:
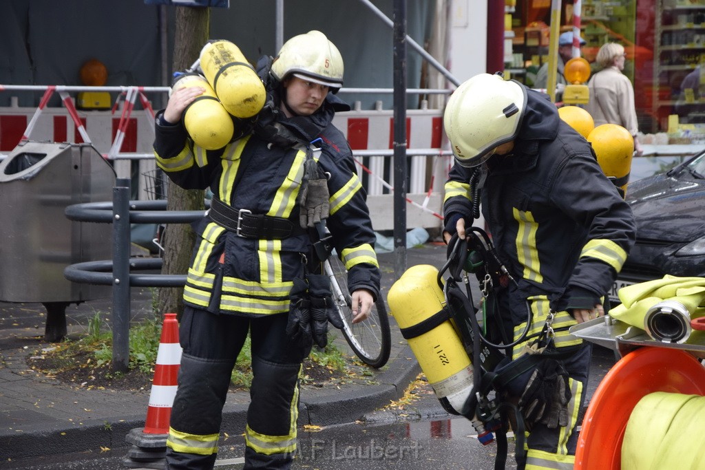
[{"label": "cream helmet with number 5 on the upright firefighter's head", "polygon": [[271,65],[271,73],[280,82],[293,74],[330,87],[335,93],[343,86],[343,56],[326,35],[312,30],[284,43]]}]

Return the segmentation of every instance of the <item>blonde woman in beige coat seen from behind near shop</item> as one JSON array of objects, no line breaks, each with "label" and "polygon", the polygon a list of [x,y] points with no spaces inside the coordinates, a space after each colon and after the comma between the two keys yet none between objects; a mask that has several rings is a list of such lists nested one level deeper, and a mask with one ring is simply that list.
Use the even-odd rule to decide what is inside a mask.
[{"label": "blonde woman in beige coat seen from behind near shop", "polygon": [[634,149],[639,156],[642,154],[642,146],[637,140],[639,126],[634,106],[634,87],[622,73],[626,58],[627,54],[621,44],[610,42],[600,47],[596,61],[602,70],[587,83],[590,101],[585,108],[596,126],[611,123],[627,129],[634,137]]}]

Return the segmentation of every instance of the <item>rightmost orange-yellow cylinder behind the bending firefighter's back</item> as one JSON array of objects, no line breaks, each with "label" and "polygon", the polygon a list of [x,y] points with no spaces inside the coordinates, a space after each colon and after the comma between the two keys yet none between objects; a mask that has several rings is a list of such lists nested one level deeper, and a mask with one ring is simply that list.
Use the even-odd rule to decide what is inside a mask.
[{"label": "rightmost orange-yellow cylinder behind the bending firefighter's back", "polygon": [[592,144],[600,168],[625,197],[632,170],[634,137],[621,125],[602,124],[590,132],[587,140]]}]

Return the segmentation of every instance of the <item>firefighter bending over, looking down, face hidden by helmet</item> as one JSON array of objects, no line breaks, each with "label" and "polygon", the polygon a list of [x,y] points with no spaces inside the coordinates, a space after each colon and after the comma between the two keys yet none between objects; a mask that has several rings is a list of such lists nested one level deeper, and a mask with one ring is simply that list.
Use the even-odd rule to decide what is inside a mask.
[{"label": "firefighter bending over, looking down, face hidden by helmet", "polygon": [[472,224],[471,194],[477,192],[470,180],[479,171],[482,214],[499,258],[517,280],[494,286],[494,339],[510,344],[530,318],[526,337],[508,351],[517,359],[527,345],[546,340],[541,331],[551,312],[549,347],[563,352],[509,390],[520,397],[531,429],[526,460],[517,463],[572,469],[591,349],[568,328],[604,315],[603,298],[635,240],[632,211],[584,137],[560,120],[544,95],[518,82],[489,74],[470,78],[450,97],[444,125],[456,163],[446,182],[444,237],[464,238]]}]

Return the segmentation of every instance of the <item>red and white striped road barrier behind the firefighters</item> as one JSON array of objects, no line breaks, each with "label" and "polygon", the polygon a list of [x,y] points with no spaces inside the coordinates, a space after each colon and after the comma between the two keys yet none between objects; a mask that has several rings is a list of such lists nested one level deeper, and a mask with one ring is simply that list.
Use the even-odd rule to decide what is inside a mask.
[{"label": "red and white striped road barrier behind the firefighters", "polygon": [[[140,173],[156,168],[154,165],[154,109],[145,92],[167,92],[168,87],[69,87],[0,85],[0,92],[12,90],[43,91],[37,109],[7,106],[0,108],[0,154],[7,154],[22,139],[51,142],[90,142],[107,159],[115,161],[118,178],[130,178],[131,160],[139,160]],[[76,109],[68,92],[118,92],[111,110]],[[54,92],[59,92],[63,106],[48,107]],[[124,96],[123,103],[120,103]],[[144,113],[133,113],[140,97]],[[122,105],[121,109],[120,106]],[[120,116],[117,111],[120,109]],[[373,225],[386,230],[393,220],[390,216],[393,180],[393,111],[347,111],[336,113],[333,124],[350,142],[358,163],[358,175],[373,204]],[[407,155],[409,183],[407,200],[414,206],[408,215],[409,225],[434,227],[441,218],[443,187],[434,187],[447,175],[452,158],[445,149],[443,112],[439,109],[407,110]],[[429,164],[429,159],[433,159]],[[144,188],[138,188],[139,199],[147,199]],[[368,199],[368,201],[370,201]],[[374,201],[379,199],[379,201]],[[418,209],[418,211],[417,211]],[[429,216],[429,217],[425,217]]]}]

